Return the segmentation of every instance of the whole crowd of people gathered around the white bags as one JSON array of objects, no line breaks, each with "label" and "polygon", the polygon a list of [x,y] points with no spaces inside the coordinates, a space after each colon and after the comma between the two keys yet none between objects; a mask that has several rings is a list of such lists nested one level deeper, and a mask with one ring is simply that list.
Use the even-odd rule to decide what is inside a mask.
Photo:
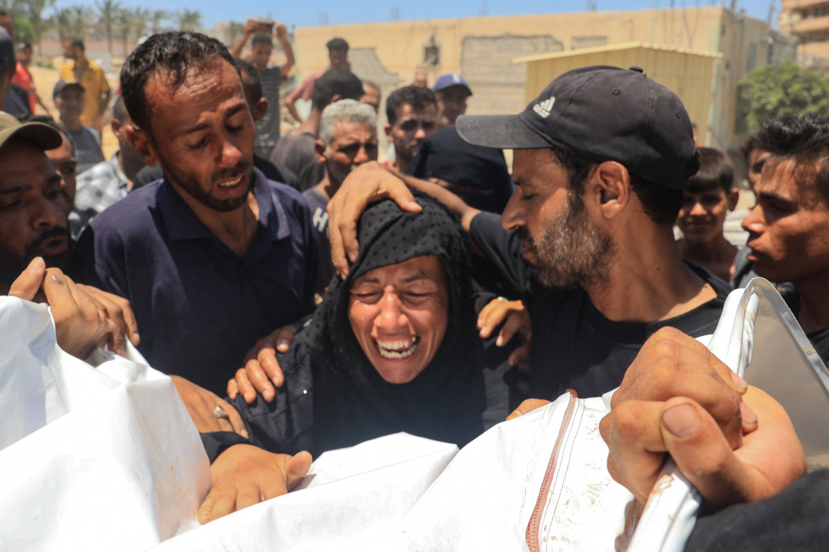
[{"label": "whole crowd of people gathered around the white bags", "polygon": [[[284,25],[251,20],[232,50],[149,37],[121,70],[109,160],[109,86],[81,41],[65,46],[56,120],[31,116],[33,91],[28,117],[0,113],[0,292],[49,302],[79,358],[129,340],[173,377],[214,465],[200,521],[285,492],[308,452],[399,431],[463,446],[486,412],[617,387],[608,468],[642,501],[666,454],[711,511],[773,497],[758,503],[773,515],[829,492],[814,476],[785,490],[805,473],[785,412],[692,339],[757,275],[829,358],[829,118],[750,138],[757,204],[748,242],[730,243],[734,166],[638,68],[571,70],[502,116],[464,115],[461,75],[429,89],[416,74],[385,98],[395,156],[381,162],[380,89],[351,72],[346,41],[327,49],[331,67],[280,102]],[[281,106],[298,121],[282,136]],[[745,550],[779,542],[741,530]]]}]

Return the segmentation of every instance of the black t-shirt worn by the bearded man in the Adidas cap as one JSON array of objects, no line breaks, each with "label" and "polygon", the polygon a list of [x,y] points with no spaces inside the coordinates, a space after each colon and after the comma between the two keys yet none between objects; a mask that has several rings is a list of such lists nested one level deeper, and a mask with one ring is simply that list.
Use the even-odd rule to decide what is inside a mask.
[{"label": "black t-shirt worn by the bearded man in the Adidas cap", "polygon": [[584,289],[542,286],[521,257],[521,242],[515,233],[501,228],[497,214],[478,214],[470,231],[484,255],[521,290],[530,310],[530,395],[537,398],[553,399],[566,389],[582,397],[612,390],[622,382],[642,344],[658,329],[672,326],[695,338],[712,334],[731,290],[708,271],[689,264],[714,287],[715,299],[672,319],[647,324],[614,322],[595,308]]}]

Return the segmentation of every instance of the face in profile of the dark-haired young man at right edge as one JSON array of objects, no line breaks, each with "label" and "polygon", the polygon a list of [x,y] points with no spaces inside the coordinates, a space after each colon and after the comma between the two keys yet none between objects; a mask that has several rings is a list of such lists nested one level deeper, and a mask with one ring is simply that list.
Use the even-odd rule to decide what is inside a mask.
[{"label": "face in profile of the dark-haired young man at right edge", "polygon": [[792,159],[770,158],[757,183],[757,206],[743,220],[749,232],[749,261],[771,281],[797,286],[829,270],[829,204],[817,191],[817,161],[797,167]]}]

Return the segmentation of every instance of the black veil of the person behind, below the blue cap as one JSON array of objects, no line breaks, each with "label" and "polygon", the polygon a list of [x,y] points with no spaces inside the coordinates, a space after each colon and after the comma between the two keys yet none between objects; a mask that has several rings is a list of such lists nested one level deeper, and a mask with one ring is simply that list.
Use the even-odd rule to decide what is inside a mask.
[{"label": "black veil of the person behind, below the blue cap", "polygon": [[419,179],[439,178],[455,185],[477,190],[460,192],[468,205],[501,214],[512,194],[512,179],[503,151],[474,146],[446,127],[426,138],[409,170]]}]

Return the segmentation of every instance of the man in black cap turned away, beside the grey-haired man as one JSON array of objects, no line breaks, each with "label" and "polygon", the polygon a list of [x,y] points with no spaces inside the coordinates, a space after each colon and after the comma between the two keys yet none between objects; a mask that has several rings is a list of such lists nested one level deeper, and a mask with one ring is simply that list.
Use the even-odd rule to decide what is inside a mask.
[{"label": "man in black cap turned away, beside the grey-haired man", "polygon": [[317,79],[313,86],[313,107],[308,118],[299,127],[279,138],[270,162],[287,166],[299,177],[301,191],[318,185],[325,176],[325,169],[317,161],[314,144],[317,143],[322,110],[329,103],[348,98],[359,100],[364,94],[362,83],[356,75],[343,67],[332,67]]}]

